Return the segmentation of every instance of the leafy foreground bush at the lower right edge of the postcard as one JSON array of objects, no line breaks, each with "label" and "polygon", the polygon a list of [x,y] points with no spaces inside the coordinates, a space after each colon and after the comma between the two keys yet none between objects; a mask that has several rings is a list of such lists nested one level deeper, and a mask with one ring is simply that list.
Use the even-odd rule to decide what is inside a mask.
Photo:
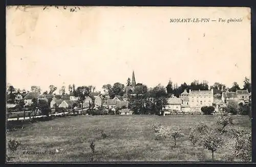
[{"label": "leafy foreground bush at the lower right edge of the postcard", "polygon": [[234,155],[243,161],[251,161],[251,132],[237,131]]}]

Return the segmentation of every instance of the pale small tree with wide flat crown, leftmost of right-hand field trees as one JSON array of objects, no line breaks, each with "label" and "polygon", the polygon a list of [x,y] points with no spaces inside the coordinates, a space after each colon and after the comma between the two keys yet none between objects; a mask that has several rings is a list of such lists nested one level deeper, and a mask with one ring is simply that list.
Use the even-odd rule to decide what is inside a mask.
[{"label": "pale small tree with wide flat crown, leftmost of right-hand field trees", "polygon": [[176,126],[167,126],[160,128],[158,132],[161,136],[165,138],[174,138],[174,146],[176,147],[176,140],[178,137],[183,136],[183,133],[179,127]]}]

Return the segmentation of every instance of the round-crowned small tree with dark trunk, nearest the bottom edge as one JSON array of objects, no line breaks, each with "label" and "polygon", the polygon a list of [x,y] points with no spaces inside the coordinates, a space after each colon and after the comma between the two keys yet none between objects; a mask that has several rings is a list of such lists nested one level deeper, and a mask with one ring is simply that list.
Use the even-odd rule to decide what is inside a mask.
[{"label": "round-crowned small tree with dark trunk, nearest the bottom edge", "polygon": [[221,133],[212,129],[202,136],[202,146],[211,151],[212,161],[214,161],[214,152],[223,145]]}]

